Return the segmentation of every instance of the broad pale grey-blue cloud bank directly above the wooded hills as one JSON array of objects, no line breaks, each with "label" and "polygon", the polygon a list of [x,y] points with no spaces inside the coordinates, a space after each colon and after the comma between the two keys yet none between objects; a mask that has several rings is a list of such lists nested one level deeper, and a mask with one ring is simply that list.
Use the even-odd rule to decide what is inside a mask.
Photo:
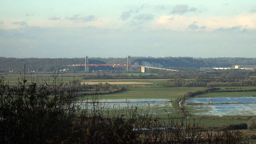
[{"label": "broad pale grey-blue cloud bank directly above the wooded hills", "polygon": [[[89,57],[125,57],[127,53],[134,57],[160,57],[170,53],[172,57],[255,58],[255,53],[252,51],[255,51],[256,30],[247,30],[243,35],[241,32],[182,32],[147,30],[143,27],[142,30],[95,27],[0,29],[0,39],[3,40],[0,41],[2,47],[0,57],[82,58],[86,53],[90,54]],[[156,43],[159,46],[155,46]],[[226,43],[230,45],[227,47]],[[171,47],[177,47],[177,49]],[[235,50],[234,47],[236,47]]]}]

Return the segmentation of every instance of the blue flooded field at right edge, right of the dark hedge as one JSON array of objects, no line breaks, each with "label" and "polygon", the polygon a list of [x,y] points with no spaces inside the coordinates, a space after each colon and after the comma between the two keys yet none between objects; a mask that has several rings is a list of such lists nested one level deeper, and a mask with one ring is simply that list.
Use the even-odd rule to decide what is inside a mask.
[{"label": "blue flooded field at right edge, right of the dark hedge", "polygon": [[256,115],[255,97],[193,98],[186,100],[184,106],[192,115]]}]

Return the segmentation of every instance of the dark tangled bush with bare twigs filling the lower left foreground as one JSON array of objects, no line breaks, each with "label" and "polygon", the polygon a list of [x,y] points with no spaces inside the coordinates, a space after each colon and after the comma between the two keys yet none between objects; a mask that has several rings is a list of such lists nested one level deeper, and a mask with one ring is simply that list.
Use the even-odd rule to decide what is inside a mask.
[{"label": "dark tangled bush with bare twigs filling the lower left foreground", "polygon": [[246,143],[239,131],[208,131],[198,123],[169,117],[164,123],[136,106],[107,110],[97,92],[78,100],[75,83],[22,82],[0,78],[0,143]]}]

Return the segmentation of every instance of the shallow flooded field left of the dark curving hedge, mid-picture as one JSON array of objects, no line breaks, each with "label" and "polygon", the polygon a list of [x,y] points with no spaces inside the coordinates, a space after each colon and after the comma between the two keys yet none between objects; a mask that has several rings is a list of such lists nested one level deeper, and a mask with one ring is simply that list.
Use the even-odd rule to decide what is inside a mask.
[{"label": "shallow flooded field left of the dark curving hedge, mid-picture", "polygon": [[[168,113],[174,113],[175,111],[171,101],[171,99],[102,99],[99,101],[99,105],[106,110],[125,110],[137,107],[140,111],[149,109],[151,114],[166,115],[166,111]],[[84,106],[86,105],[90,106],[90,103],[84,103]]]}]

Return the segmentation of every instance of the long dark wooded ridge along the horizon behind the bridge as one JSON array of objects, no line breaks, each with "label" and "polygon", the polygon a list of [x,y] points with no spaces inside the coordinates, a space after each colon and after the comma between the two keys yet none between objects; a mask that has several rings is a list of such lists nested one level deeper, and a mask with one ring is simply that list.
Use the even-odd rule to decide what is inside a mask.
[{"label": "long dark wooded ridge along the horizon behind the bridge", "polygon": [[[35,72],[52,72],[69,68],[71,71],[82,71],[82,67],[68,67],[73,64],[84,64],[84,58],[4,58],[0,57],[0,72],[17,72],[24,64]],[[89,58],[89,64],[126,64],[126,58]],[[201,68],[201,67],[232,67],[234,65],[256,65],[256,58],[191,58],[191,57],[131,57],[132,65],[161,67],[161,68]],[[97,68],[93,68],[97,69]],[[100,68],[113,69],[113,68]]]}]

